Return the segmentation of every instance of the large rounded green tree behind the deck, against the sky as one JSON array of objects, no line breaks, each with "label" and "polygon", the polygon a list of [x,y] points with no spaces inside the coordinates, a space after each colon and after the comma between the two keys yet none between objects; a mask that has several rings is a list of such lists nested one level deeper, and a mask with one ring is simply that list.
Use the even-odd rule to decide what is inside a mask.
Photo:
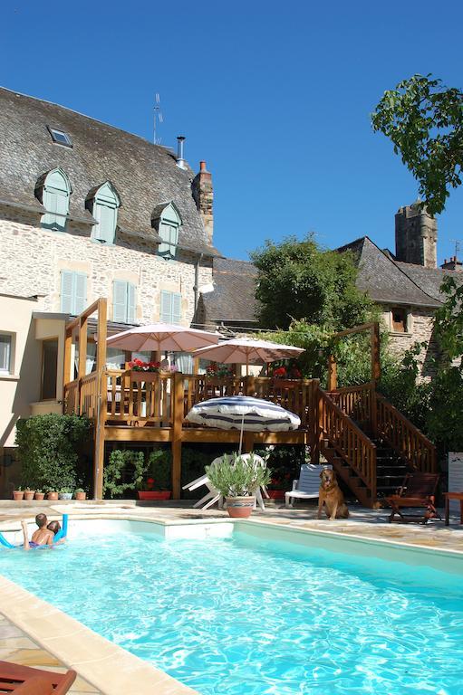
[{"label": "large rounded green tree behind the deck, against the sky", "polygon": [[293,236],[267,241],[251,258],[263,327],[285,329],[293,319],[305,319],[340,330],[369,318],[373,303],[355,286],[358,269],[351,252],[324,251],[309,234],[302,242]]}]

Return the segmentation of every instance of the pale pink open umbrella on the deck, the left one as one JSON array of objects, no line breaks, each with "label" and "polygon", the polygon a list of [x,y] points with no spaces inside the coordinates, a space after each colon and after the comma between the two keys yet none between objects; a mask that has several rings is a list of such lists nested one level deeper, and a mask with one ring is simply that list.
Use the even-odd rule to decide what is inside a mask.
[{"label": "pale pink open umbrella on the deck, the left one", "polygon": [[151,323],[129,328],[107,339],[108,347],[130,352],[193,352],[217,345],[218,333],[169,323]]}]

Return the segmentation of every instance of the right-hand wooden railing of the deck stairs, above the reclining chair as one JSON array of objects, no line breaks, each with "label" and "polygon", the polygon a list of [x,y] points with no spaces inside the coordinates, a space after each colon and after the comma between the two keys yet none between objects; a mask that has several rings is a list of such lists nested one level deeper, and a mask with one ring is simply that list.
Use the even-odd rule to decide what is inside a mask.
[{"label": "right-hand wooden railing of the deck stairs, above the reclining chair", "polygon": [[423,473],[437,470],[434,444],[379,394],[376,395],[376,429],[378,436],[414,469]]}]

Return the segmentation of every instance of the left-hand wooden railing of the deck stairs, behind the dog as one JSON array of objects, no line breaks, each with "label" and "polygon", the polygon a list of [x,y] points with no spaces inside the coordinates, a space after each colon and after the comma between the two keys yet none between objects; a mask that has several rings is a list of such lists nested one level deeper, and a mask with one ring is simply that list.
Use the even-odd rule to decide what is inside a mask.
[{"label": "left-hand wooden railing of the deck stairs, behind the dog", "polygon": [[371,499],[376,499],[376,447],[352,422],[349,415],[342,412],[330,395],[322,389],[318,396],[318,427],[342,459],[362,479],[370,490]]}]

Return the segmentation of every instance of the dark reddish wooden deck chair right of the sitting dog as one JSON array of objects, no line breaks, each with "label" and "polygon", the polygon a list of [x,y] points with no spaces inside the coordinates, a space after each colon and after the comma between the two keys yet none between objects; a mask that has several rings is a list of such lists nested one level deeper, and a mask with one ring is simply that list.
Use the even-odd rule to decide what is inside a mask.
[{"label": "dark reddish wooden deck chair right of the sitting dog", "polygon": [[[386,502],[390,505],[392,511],[389,517],[389,522],[394,520],[396,514],[404,522],[415,521],[419,519],[422,524],[426,524],[428,519],[439,519],[439,511],[434,506],[436,499],[436,490],[439,484],[439,473],[407,473],[399,490],[395,495],[386,498]],[[424,509],[423,515],[412,514],[405,515],[400,509]]]}]

